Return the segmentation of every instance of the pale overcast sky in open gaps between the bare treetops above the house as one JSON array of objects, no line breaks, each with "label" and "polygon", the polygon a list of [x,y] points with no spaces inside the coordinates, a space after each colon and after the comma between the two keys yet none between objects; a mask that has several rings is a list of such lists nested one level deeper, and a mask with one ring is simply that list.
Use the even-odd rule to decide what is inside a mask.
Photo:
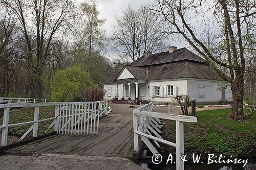
[{"label": "pale overcast sky in open gaps between the bare treetops above the house", "polygon": [[[78,2],[83,2],[84,0],[78,0]],[[115,23],[115,16],[122,16],[122,9],[131,4],[134,9],[138,9],[142,4],[153,4],[154,0],[96,0],[98,2],[98,10],[100,18],[105,18],[106,22],[104,29],[106,30],[106,36],[111,36],[111,30]],[[178,48],[188,47],[186,41],[180,42],[177,38],[175,40],[171,39],[168,41],[167,45],[177,46]],[[167,51],[167,49],[166,49]]]}]

